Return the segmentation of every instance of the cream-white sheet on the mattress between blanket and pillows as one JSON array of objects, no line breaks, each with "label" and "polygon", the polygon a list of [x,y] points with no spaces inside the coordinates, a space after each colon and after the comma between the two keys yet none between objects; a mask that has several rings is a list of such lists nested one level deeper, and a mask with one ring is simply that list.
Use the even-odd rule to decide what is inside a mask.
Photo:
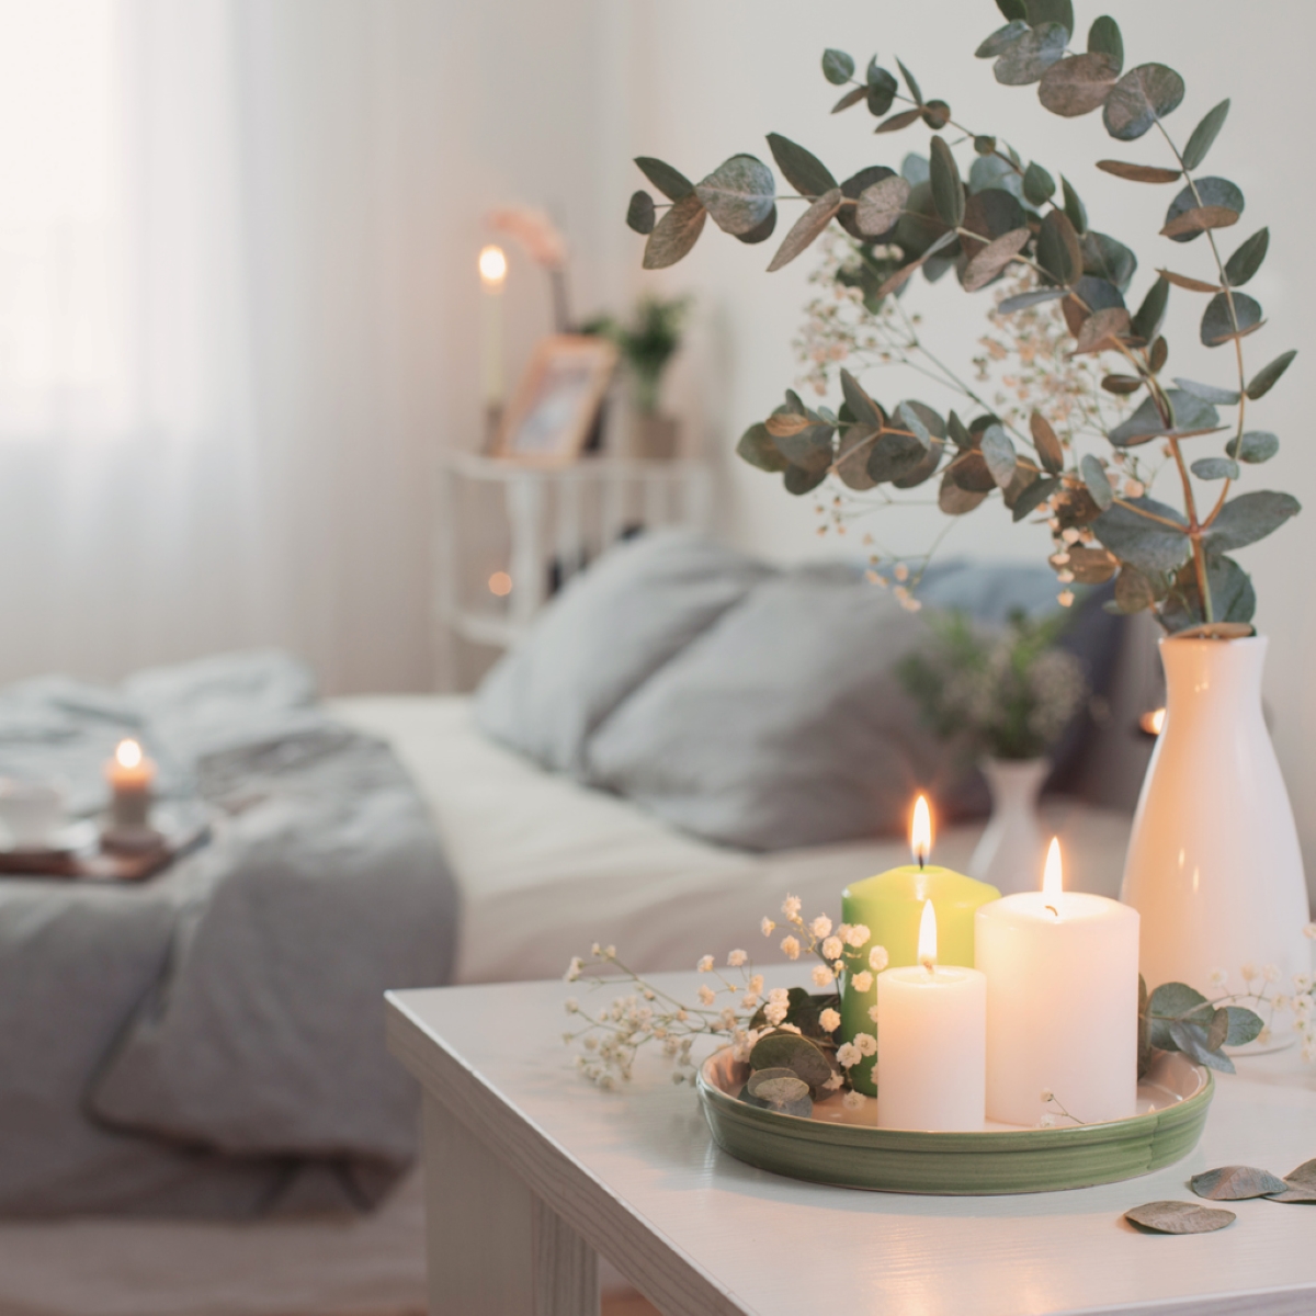
[{"label": "cream-white sheet on the mattress between blanket and pillows", "polygon": [[[387,737],[433,812],[462,895],[458,982],[554,978],[592,941],[646,971],[736,946],[776,959],[758,925],[787,892],[811,916],[838,917],[846,883],[908,862],[899,838],[769,855],[708,845],[488,741],[466,697],[341,699],[332,711]],[[1066,886],[1115,895],[1129,817],[1065,801],[1046,812]],[[937,861],[967,869],[979,830],[948,829]]]}]

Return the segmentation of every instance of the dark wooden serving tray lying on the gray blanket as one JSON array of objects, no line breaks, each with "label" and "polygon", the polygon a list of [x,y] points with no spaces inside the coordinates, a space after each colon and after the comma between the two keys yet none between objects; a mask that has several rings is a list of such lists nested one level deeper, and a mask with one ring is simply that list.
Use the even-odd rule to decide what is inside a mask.
[{"label": "dark wooden serving tray lying on the gray blanket", "polygon": [[24,850],[0,844],[0,878],[145,882],[211,836],[209,813],[195,805],[158,807],[153,821],[159,842],[143,849],[105,849],[101,821],[93,817],[70,824],[47,849]]}]

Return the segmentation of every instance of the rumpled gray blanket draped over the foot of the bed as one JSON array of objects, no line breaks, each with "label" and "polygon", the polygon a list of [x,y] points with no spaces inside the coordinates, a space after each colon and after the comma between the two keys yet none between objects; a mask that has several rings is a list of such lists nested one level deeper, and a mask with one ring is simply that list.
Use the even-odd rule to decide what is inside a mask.
[{"label": "rumpled gray blanket draped over the foot of the bed", "polygon": [[0,1213],[370,1205],[416,1140],[380,998],[455,949],[422,801],[279,654],[0,691],[0,775],[78,811],[124,734],[212,838],[141,886],[0,879]]}]

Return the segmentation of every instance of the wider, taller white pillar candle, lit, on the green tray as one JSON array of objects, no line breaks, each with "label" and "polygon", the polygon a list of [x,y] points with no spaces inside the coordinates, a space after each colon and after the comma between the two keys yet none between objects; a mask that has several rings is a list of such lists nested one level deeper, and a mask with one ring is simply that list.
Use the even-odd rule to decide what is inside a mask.
[{"label": "wider, taller white pillar candle, lit, on the green tray", "polygon": [[1053,838],[1041,891],[974,916],[974,962],[987,975],[988,1120],[1069,1123],[1063,1109],[1098,1124],[1137,1112],[1138,915],[1062,886]]}]

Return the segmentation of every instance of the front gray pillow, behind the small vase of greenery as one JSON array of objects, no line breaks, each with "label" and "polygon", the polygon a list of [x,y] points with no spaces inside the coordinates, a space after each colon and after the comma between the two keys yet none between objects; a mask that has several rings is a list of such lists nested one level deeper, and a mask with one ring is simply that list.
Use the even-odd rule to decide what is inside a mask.
[{"label": "front gray pillow, behind the small vase of greenery", "polygon": [[924,634],[849,570],[769,580],[599,728],[588,778],[751,850],[900,832],[954,772],[892,674]]}]

